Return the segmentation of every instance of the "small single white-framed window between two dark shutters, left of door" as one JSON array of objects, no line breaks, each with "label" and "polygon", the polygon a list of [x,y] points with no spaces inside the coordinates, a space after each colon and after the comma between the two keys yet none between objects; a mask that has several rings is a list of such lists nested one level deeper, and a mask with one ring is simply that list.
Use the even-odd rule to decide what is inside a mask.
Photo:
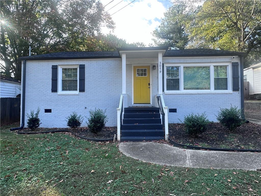
[{"label": "small single white-framed window between two dark shutters, left of door", "polygon": [[59,65],[58,95],[79,94],[79,65]]}]

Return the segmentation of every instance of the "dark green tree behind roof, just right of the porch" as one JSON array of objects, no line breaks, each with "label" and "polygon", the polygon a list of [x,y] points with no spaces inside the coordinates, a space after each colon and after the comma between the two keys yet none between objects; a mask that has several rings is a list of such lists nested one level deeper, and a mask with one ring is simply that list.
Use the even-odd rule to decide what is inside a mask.
[{"label": "dark green tree behind roof, just right of the porch", "polygon": [[168,46],[174,49],[184,49],[188,42],[188,33],[186,32],[186,22],[189,18],[190,10],[186,10],[183,4],[174,4],[164,13],[161,25],[154,30],[152,35],[157,46]]}]

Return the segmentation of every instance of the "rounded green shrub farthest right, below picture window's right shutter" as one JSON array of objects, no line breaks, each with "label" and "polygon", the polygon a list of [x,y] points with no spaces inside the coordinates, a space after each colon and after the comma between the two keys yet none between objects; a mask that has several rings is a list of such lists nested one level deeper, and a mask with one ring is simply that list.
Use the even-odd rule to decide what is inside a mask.
[{"label": "rounded green shrub farthest right, below picture window's right shutter", "polygon": [[238,126],[244,123],[241,118],[241,109],[238,107],[221,108],[217,115],[217,120],[230,131],[234,131]]}]

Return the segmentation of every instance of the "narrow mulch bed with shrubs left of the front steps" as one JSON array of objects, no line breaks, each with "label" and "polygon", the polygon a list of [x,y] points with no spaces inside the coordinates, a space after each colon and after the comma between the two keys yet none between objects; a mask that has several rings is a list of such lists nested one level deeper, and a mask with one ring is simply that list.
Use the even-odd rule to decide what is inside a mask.
[{"label": "narrow mulch bed with shrubs left of the front steps", "polygon": [[79,127],[75,130],[71,128],[37,128],[34,131],[32,131],[29,128],[21,130],[22,132],[44,132],[44,131],[56,131],[56,130],[70,130],[73,131],[75,134],[88,137],[90,139],[112,139],[114,137],[114,134],[117,135],[117,127],[109,127],[105,126],[102,131],[100,131],[98,134],[92,133],[88,127]]}]

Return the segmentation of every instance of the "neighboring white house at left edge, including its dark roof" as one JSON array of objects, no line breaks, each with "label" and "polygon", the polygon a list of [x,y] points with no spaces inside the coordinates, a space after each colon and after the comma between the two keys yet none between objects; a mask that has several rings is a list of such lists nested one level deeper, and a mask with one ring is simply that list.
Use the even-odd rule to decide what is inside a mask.
[{"label": "neighboring white house at left edge, including its dark roof", "polygon": [[0,97],[16,97],[21,92],[19,80],[0,75]]}]

